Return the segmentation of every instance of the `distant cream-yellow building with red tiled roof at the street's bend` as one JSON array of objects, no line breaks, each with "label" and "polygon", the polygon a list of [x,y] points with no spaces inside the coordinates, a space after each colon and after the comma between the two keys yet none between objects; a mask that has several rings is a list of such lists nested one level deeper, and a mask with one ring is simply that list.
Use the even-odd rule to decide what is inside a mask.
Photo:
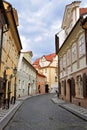
[{"label": "distant cream-yellow building with red tiled roof at the street's bend", "polygon": [[43,55],[33,63],[33,66],[46,76],[47,82],[45,87],[47,87],[49,91],[51,91],[53,87],[58,88],[57,65],[58,59],[55,53]]}]

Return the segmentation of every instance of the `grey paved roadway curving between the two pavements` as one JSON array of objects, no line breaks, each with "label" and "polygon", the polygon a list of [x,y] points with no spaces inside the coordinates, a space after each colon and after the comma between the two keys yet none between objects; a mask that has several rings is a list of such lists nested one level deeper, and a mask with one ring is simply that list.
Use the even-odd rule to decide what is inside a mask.
[{"label": "grey paved roadway curving between the two pavements", "polygon": [[87,130],[87,122],[54,104],[55,95],[27,99],[4,130]]}]

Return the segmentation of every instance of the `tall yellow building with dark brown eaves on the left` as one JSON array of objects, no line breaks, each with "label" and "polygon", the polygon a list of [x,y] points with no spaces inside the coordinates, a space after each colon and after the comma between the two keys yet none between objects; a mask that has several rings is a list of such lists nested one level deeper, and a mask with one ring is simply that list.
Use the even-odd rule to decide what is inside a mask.
[{"label": "tall yellow building with dark brown eaves on the left", "polygon": [[0,77],[4,82],[1,83],[1,88],[3,89],[1,102],[7,103],[9,108],[12,98],[16,99],[16,71],[22,46],[17,30],[17,12],[8,2],[4,1],[3,6],[8,19],[9,29],[6,30],[7,25],[3,28]]}]

